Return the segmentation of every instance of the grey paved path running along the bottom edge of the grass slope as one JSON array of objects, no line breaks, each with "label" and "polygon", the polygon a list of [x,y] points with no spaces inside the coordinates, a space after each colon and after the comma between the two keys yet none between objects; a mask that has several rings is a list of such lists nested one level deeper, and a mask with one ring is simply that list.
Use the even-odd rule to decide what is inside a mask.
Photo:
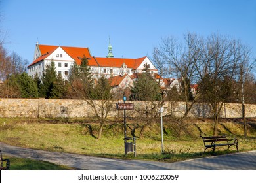
[{"label": "grey paved path running along the bottom edge of the grass slope", "polygon": [[155,161],[120,160],[96,158],[80,154],[47,152],[10,146],[0,142],[3,154],[20,158],[49,161],[58,165],[67,165],[77,169],[91,170],[256,170],[256,150],[240,152],[210,158],[190,159],[177,163]]}]

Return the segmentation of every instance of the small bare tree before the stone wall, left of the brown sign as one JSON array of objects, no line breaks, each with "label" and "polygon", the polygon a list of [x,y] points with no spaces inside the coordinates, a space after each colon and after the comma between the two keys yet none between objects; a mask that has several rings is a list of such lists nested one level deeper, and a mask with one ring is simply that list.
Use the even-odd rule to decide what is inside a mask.
[{"label": "small bare tree before the stone wall, left of the brown sign", "polygon": [[102,136],[102,130],[106,120],[114,107],[116,92],[112,90],[110,83],[104,75],[98,80],[89,73],[88,61],[84,57],[81,65],[74,65],[68,80],[68,85],[72,91],[72,96],[76,99],[83,99],[85,103],[93,108],[100,128],[98,139]]}]

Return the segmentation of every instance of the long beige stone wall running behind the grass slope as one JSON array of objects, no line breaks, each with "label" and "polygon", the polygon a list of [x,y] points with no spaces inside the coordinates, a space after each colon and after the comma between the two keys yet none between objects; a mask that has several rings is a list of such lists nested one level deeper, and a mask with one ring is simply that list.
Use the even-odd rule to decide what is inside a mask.
[{"label": "long beige stone wall running behind the grass slope", "polygon": [[[116,101],[118,102],[118,101]],[[110,116],[123,116],[122,110],[116,110],[116,102],[113,103]],[[122,101],[119,101],[122,102]],[[127,101],[128,102],[128,101]],[[98,101],[95,101],[98,103]],[[160,103],[146,103],[143,101],[131,101],[135,110],[127,110],[127,116],[147,116],[158,114]],[[185,103],[165,102],[164,115],[180,117],[185,112]],[[153,108],[153,109],[151,109]],[[27,117],[27,118],[83,118],[95,116],[93,108],[83,100],[68,99],[0,99],[0,117]],[[190,117],[210,118],[213,116],[212,108],[207,103],[196,103]],[[246,105],[246,116],[256,118],[256,105]],[[221,118],[242,117],[242,106],[236,103],[225,103],[221,111]]]}]

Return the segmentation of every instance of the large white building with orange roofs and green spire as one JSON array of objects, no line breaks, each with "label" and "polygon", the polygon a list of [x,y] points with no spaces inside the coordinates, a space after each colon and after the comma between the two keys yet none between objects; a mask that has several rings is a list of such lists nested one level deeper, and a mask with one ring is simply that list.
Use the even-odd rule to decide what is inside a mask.
[{"label": "large white building with orange roofs and green spire", "polygon": [[91,74],[95,78],[101,75],[106,76],[106,78],[125,74],[131,76],[133,73],[142,73],[145,68],[152,75],[158,73],[152,61],[146,56],[138,59],[114,58],[110,51],[108,56],[110,55],[111,57],[100,58],[91,56],[89,48],[36,44],[34,61],[28,65],[28,75],[32,78],[38,75],[41,78],[46,65],[54,61],[56,73],[61,74],[64,80],[68,80],[71,65],[74,62],[80,65],[81,58],[84,56],[88,59],[88,66],[91,68]]}]

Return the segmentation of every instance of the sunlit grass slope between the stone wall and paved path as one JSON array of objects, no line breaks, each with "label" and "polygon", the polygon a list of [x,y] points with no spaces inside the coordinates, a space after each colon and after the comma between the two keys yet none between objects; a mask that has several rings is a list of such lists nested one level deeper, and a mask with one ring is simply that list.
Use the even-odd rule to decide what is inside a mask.
[{"label": "sunlit grass slope between the stone wall and paved path", "polygon": [[[138,122],[139,123],[139,122]],[[150,161],[175,162],[184,159],[201,158],[236,152],[236,148],[216,148],[203,153],[204,146],[200,133],[212,135],[212,120],[188,120],[179,124],[164,118],[164,148],[161,154],[161,127],[155,123],[146,128],[143,136],[137,138],[137,158],[133,154],[124,156],[123,123],[110,121],[104,126],[102,139],[96,139],[99,124],[90,119],[26,119],[0,118],[0,141],[14,146],[41,150],[70,152],[119,159],[144,159]],[[127,121],[127,136],[137,122]],[[223,120],[219,125],[219,135],[238,138],[239,150],[256,150],[256,130],[248,125],[249,137],[244,137],[243,125],[232,120]],[[139,136],[140,128],[135,131]]]}]

